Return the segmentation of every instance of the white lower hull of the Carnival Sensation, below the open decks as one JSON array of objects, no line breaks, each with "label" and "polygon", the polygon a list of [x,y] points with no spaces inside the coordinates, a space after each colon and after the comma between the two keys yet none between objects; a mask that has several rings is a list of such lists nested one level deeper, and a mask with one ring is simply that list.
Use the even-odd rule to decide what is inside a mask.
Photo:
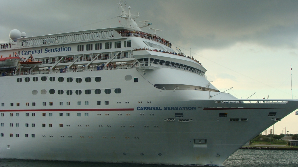
[{"label": "white lower hull of the Carnival Sensation, below the open decks", "polygon": [[[166,74],[164,70],[169,69],[160,69],[158,72]],[[149,77],[149,82],[145,80],[140,70],[123,69],[116,70],[117,73],[114,71],[75,73],[76,78],[83,78],[82,83],[68,83],[66,79],[64,82],[57,81],[57,77],[72,77],[73,73],[30,76],[30,79],[41,76],[49,79],[55,76],[55,84],[48,80],[24,82],[27,76],[22,76],[21,83],[16,82],[15,76],[1,77],[1,85],[10,84],[16,89],[1,89],[1,103],[5,103],[5,106],[0,108],[0,112],[5,114],[1,117],[1,123],[5,125],[5,129],[1,127],[1,133],[4,132],[6,136],[1,137],[0,157],[221,165],[229,155],[274,124],[272,118],[283,118],[297,108],[297,101],[294,100],[287,100],[287,103],[215,103],[215,100],[207,99],[208,91],[161,90],[149,83]],[[150,76],[150,72],[146,73]],[[184,74],[191,76],[188,72]],[[126,75],[137,77],[139,81],[125,81]],[[94,82],[96,76],[100,76],[102,81]],[[91,77],[92,81],[86,83],[86,77]],[[109,88],[121,88],[122,92],[93,92],[94,89]],[[38,94],[33,95],[33,89],[37,89]],[[55,89],[56,93],[41,94],[42,89]],[[63,89],[64,94],[57,94],[58,89]],[[91,89],[92,93],[75,94],[75,90],[84,92],[84,89]],[[73,90],[73,94],[67,95],[66,90]],[[22,95],[20,98],[18,92],[26,96]],[[211,93],[215,95],[218,92]],[[226,100],[235,100],[231,95],[224,94],[220,96],[224,96]],[[66,105],[67,101],[71,105]],[[77,101],[81,101],[82,105],[77,105]],[[89,105],[84,105],[85,101],[88,101]],[[97,105],[97,101],[101,101],[101,105]],[[109,101],[109,105],[105,105],[104,101]],[[11,102],[19,102],[23,106],[9,106]],[[36,106],[31,106],[32,102],[35,102]],[[42,106],[43,102],[53,102],[53,105]],[[64,102],[64,105],[60,106],[59,102]],[[25,103],[30,103],[30,106],[24,106]],[[150,110],[144,110],[143,107]],[[165,110],[168,107],[172,110]],[[171,107],[177,108],[174,110]],[[219,117],[221,112],[228,113],[228,116]],[[269,112],[277,114],[269,117]],[[13,113],[13,116],[10,116],[10,113]],[[16,113],[20,116],[15,116]],[[25,113],[29,113],[29,116],[25,116]],[[36,115],[31,116],[32,113]],[[46,113],[46,116],[42,116],[42,113]],[[50,117],[49,113],[53,113],[53,116]],[[59,116],[59,113],[63,113],[63,116]],[[70,113],[70,116],[66,116],[66,113]],[[82,115],[77,116],[77,113]],[[89,116],[84,116],[84,113],[89,113]],[[175,113],[183,113],[180,119],[189,119],[189,122],[179,122]],[[231,122],[231,117],[247,118],[247,121]],[[167,121],[169,118],[175,121]],[[19,123],[20,126],[7,127],[10,123]],[[26,123],[29,127],[24,126]],[[35,123],[35,127],[31,127],[32,123]],[[48,126],[50,123],[52,127]],[[42,124],[46,127],[42,127]],[[63,127],[59,127],[59,124],[63,124]],[[9,133],[12,133],[13,137],[8,136]],[[15,137],[16,133],[20,137]],[[25,134],[29,134],[29,137],[25,138]],[[32,134],[35,135],[34,138],[31,137]],[[207,143],[197,144],[195,140],[207,140]]]}]

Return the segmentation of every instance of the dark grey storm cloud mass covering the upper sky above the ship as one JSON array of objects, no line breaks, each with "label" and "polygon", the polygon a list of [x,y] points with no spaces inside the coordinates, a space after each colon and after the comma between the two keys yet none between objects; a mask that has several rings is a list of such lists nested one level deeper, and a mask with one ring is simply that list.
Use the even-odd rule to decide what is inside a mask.
[{"label": "dark grey storm cloud mass covering the upper sky above the ship", "polygon": [[[132,13],[141,12],[137,23],[152,19],[150,27],[162,29],[157,34],[177,45],[216,49],[237,42],[274,48],[296,48],[298,44],[298,1],[127,0],[126,3]],[[0,41],[8,41],[12,29],[38,36],[118,27],[119,18],[114,18],[120,14],[118,7],[116,0],[1,0]],[[152,32],[149,28],[144,30]]]}]

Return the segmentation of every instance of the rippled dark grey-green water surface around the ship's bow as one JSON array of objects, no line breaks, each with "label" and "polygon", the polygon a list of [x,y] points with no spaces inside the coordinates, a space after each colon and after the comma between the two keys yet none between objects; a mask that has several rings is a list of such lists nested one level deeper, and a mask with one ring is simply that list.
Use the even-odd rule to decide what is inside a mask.
[{"label": "rippled dark grey-green water surface around the ship's bow", "polygon": [[[223,163],[226,167],[298,167],[298,151],[238,150]],[[0,167],[186,167],[181,165],[87,163],[0,159]],[[193,167],[193,166],[190,166]],[[203,167],[203,166],[202,166]],[[205,167],[205,166],[204,166]],[[207,167],[207,166],[206,166]]]}]

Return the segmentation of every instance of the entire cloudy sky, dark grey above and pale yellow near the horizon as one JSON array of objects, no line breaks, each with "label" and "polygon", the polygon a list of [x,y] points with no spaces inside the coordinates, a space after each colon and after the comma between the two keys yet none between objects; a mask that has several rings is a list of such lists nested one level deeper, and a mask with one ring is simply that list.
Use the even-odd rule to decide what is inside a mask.
[{"label": "entire cloudy sky, dark grey above and pale yellow near the horizon", "polygon": [[[298,99],[298,1],[126,0],[136,22],[161,29],[207,69],[212,84],[238,98]],[[101,0],[0,0],[0,43],[18,29],[27,37],[119,27],[119,5]],[[122,21],[123,23],[123,21]],[[141,25],[142,23],[139,23]],[[290,70],[292,65],[293,70]],[[275,134],[298,133],[298,115],[275,124]]]}]

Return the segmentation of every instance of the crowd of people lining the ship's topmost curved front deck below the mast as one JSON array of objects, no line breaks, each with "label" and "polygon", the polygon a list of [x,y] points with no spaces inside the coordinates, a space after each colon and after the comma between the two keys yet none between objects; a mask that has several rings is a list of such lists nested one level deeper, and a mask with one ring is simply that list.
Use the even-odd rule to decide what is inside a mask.
[{"label": "crowd of people lining the ship's topmost curved front deck below the mast", "polygon": [[170,41],[167,41],[161,37],[158,37],[156,36],[156,34],[148,34],[146,32],[140,32],[140,31],[119,31],[119,34],[125,37],[142,37],[148,40],[153,40],[153,41],[162,43],[168,47],[172,46],[172,43]]}]

